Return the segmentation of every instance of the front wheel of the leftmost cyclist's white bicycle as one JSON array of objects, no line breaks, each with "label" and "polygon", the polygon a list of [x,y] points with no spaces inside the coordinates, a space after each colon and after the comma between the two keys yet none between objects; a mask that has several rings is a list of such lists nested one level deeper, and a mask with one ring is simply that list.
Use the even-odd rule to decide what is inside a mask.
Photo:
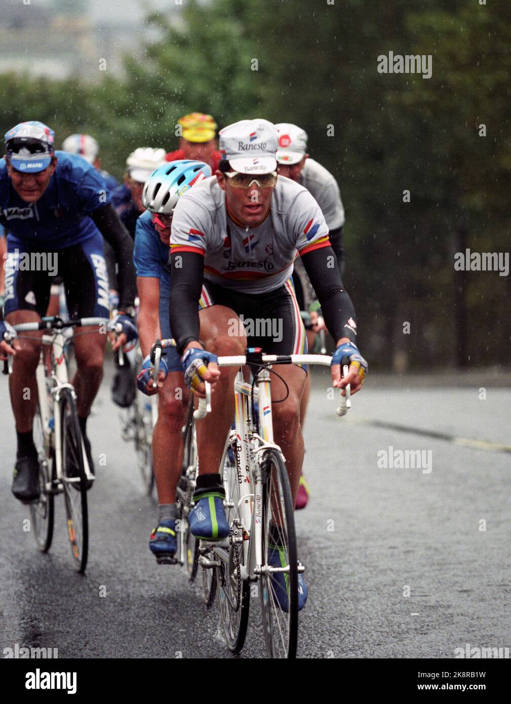
[{"label": "front wheel of the leftmost cyclist's white bicycle", "polygon": [[82,433],[75,399],[70,389],[61,391],[62,483],[68,537],[77,570],[84,572],[89,552],[89,516],[87,513],[87,479],[85,476]]}]

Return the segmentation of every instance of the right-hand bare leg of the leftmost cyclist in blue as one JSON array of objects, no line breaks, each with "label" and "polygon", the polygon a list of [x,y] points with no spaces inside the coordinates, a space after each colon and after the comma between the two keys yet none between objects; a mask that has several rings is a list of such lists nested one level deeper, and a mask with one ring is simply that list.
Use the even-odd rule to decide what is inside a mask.
[{"label": "right-hand bare leg of the leftmost cyclist in blue", "polygon": [[[72,384],[76,389],[78,415],[82,418],[89,415],[103,378],[106,335],[93,330],[90,327],[75,328],[77,372]],[[80,335],[80,332],[85,334]]]}]

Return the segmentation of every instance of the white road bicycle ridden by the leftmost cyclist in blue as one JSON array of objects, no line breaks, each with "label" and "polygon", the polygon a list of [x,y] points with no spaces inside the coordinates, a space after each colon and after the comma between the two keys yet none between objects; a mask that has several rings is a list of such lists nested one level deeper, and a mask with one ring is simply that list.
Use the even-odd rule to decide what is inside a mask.
[{"label": "white road bicycle ridden by the leftmost cyclist in blue", "polygon": [[[94,482],[78,422],[75,389],[68,378],[68,349],[73,327],[105,326],[106,318],[62,320],[58,315],[42,322],[13,325],[16,337],[34,339],[19,333],[46,331],[42,335],[41,356],[36,370],[37,406],[34,415],[34,444],[39,458],[38,501],[30,503],[32,529],[42,553],[49,551],[53,538],[54,497],[64,494],[66,524],[72,557],[81,573],[89,553],[87,485]],[[83,331],[78,334],[87,334]],[[7,341],[14,336],[6,334]],[[13,357],[4,362],[4,374],[11,374]]]}]

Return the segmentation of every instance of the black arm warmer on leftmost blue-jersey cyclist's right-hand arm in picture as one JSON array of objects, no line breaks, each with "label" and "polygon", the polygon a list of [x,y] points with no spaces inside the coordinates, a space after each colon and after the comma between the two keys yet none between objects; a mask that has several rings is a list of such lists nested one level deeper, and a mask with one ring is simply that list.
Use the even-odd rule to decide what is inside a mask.
[{"label": "black arm warmer on leftmost blue-jersey cyclist's right-hand arm in picture", "polygon": [[126,310],[133,306],[137,290],[137,277],[133,264],[133,240],[120,222],[111,203],[93,210],[91,218],[115,252],[115,261],[119,265],[119,310]]}]

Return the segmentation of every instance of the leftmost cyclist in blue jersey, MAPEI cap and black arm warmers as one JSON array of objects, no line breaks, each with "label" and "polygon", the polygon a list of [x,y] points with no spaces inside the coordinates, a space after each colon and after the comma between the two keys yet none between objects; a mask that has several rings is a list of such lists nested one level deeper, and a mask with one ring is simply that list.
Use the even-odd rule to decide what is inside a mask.
[{"label": "leftmost cyclist in blue jersey, MAPEI cap and black arm warmers", "polygon": [[[20,501],[39,497],[32,422],[37,403],[35,371],[40,333],[15,340],[11,346],[4,340],[6,329],[41,320],[55,275],[63,278],[70,317],[108,319],[104,237],[115,251],[120,276],[120,314],[113,322],[120,322],[122,333],[114,348],[137,339],[130,317],[134,302],[132,241],[111,206],[101,175],[81,156],[53,151],[53,141],[53,130],[42,122],[21,122],[6,133],[5,161],[0,161],[0,225],[8,230],[0,358],[6,358],[6,353],[14,356],[9,378],[18,439],[13,494]],[[103,375],[106,334],[80,332],[77,327],[77,372],[72,383],[93,471],[86,425]]]}]

